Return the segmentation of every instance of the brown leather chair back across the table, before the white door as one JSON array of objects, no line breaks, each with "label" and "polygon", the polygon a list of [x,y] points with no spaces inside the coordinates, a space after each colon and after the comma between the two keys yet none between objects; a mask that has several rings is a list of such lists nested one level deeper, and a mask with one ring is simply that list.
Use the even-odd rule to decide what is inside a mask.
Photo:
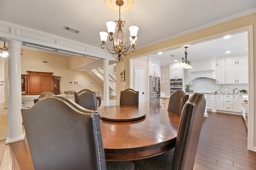
[{"label": "brown leather chair back across the table, before the white door", "polygon": [[131,88],[121,91],[120,105],[139,106],[139,92]]}]

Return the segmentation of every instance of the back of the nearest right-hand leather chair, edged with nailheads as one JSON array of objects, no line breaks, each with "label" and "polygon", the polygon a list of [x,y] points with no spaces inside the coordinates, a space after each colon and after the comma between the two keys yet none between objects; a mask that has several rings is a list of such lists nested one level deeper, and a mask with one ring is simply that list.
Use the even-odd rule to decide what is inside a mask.
[{"label": "back of the nearest right-hand leather chair, edged with nailheads", "polygon": [[172,170],[192,170],[202,128],[206,101],[204,94],[195,93],[185,103],[174,150]]}]

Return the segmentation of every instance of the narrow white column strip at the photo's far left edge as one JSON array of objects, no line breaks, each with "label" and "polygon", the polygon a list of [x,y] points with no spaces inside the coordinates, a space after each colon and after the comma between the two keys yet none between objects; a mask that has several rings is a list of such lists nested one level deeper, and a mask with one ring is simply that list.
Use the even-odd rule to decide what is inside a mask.
[{"label": "narrow white column strip at the photo's far left edge", "polygon": [[5,92],[4,92],[4,63],[5,58],[0,57],[0,110],[4,109],[4,100],[5,100]]}]

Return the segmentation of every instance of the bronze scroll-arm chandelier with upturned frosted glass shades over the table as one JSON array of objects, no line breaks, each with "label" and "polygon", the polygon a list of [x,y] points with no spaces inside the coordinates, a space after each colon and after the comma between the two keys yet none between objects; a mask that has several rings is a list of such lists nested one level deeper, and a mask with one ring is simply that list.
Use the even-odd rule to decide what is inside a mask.
[{"label": "bronze scroll-arm chandelier with upturned frosted glass shades over the table", "polygon": [[[108,52],[112,54],[112,56],[117,55],[116,60],[120,61],[122,59],[122,55],[126,56],[130,53],[132,50],[133,52],[135,51],[134,46],[136,45],[137,41],[137,32],[138,32],[138,27],[136,26],[131,26],[129,27],[130,30],[130,42],[126,40],[126,37],[124,36],[124,32],[122,31],[122,27],[124,27],[125,21],[122,21],[120,19],[120,10],[121,6],[124,4],[123,0],[116,0],[116,5],[119,6],[119,20],[118,21],[108,21],[106,23],[108,27],[108,33],[109,33],[109,40],[110,44],[106,45],[106,41],[108,38],[108,33],[106,32],[100,32],[100,39],[102,41],[102,44],[100,47],[102,49],[105,48],[105,46],[108,49]],[[118,27],[117,32],[115,33],[115,27]],[[115,33],[115,34],[114,34]],[[114,36],[113,36],[114,35]]]}]

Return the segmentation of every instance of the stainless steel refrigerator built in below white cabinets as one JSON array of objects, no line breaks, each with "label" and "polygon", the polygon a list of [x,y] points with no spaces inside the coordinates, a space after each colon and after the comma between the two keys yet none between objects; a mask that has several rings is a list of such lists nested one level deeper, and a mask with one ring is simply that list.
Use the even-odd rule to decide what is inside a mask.
[{"label": "stainless steel refrigerator built in below white cabinets", "polygon": [[149,89],[150,89],[150,107],[160,108],[160,77],[149,76]]}]

